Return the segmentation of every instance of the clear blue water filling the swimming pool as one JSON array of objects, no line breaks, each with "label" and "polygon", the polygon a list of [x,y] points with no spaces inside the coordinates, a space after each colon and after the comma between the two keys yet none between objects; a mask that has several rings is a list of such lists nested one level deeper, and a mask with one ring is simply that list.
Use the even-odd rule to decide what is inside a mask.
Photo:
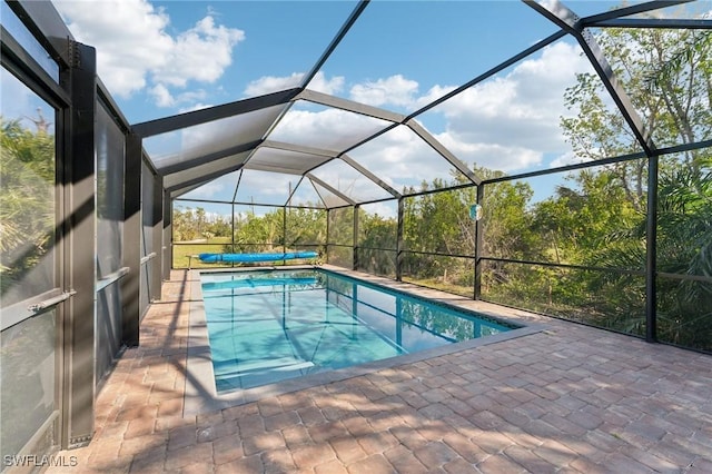
[{"label": "clear blue water filling the swimming pool", "polygon": [[319,269],[202,274],[218,393],[515,328]]}]

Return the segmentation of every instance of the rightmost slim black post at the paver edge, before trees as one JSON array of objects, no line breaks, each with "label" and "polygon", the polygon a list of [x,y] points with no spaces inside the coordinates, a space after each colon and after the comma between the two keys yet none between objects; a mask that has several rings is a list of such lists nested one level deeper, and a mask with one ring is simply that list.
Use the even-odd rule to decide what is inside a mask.
[{"label": "rightmost slim black post at the paver edge, before trees", "polygon": [[645,340],[657,342],[657,156],[647,158],[645,225]]}]

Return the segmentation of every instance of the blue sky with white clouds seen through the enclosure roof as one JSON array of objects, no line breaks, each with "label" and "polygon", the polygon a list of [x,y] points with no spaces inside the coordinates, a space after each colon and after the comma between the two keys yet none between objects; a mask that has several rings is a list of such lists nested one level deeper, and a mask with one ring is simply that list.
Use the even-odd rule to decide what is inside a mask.
[{"label": "blue sky with white clouds seen through the enclosure roof", "polygon": [[[52,2],[75,38],[97,48],[99,77],[131,124],[298,86],[356,7],[299,0]],[[564,3],[580,16],[616,4]],[[407,115],[556,30],[518,1],[373,1],[308,88]],[[560,118],[572,113],[563,93],[576,73],[591,71],[565,38],[417,120],[468,165],[517,174],[575,162],[558,128]],[[382,126],[299,102],[275,136],[333,148],[343,145],[344,130],[357,141]],[[168,152],[160,140],[145,147]],[[451,172],[403,128],[352,155],[396,188]],[[330,182],[343,171],[322,172]],[[190,196],[231,198],[230,179]],[[254,194],[269,190],[264,179],[255,182]]]}]

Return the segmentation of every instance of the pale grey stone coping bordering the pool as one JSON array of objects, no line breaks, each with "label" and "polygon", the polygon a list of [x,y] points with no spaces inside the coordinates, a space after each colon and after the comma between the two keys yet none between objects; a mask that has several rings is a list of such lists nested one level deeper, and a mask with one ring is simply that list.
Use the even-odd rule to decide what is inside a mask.
[{"label": "pale grey stone coping bordering the pool", "polygon": [[[389,289],[414,295],[416,297],[425,297],[431,300],[435,300],[439,304],[445,304],[454,307],[459,307],[466,310],[474,310],[485,316],[516,325],[522,326],[515,329],[507,330],[505,333],[495,334],[492,336],[481,337],[476,339],[464,340],[462,343],[448,344],[445,346],[434,347],[431,349],[419,350],[413,354],[406,354],[395,357],[388,357],[380,361],[374,361],[366,364],[360,364],[353,367],[344,367],[334,371],[320,372],[316,374],[309,374],[297,378],[290,378],[283,382],[263,385],[254,388],[238,389],[228,392],[225,394],[218,394],[215,386],[215,373],[212,371],[212,362],[210,356],[210,344],[208,340],[208,327],[205,316],[205,306],[202,300],[202,290],[200,285],[201,273],[234,273],[234,271],[254,271],[254,270],[270,270],[270,269],[325,269],[335,274],[344,275],[350,278],[356,278],[375,285],[382,285]],[[300,389],[312,388],[319,385],[326,385],[333,382],[344,381],[352,377],[377,372],[384,368],[392,368],[405,364],[413,364],[428,358],[443,356],[446,354],[453,354],[461,350],[473,349],[476,347],[483,347],[491,344],[496,344],[503,340],[510,340],[518,337],[528,336],[531,334],[541,333],[548,328],[547,325],[522,320],[521,316],[526,315],[524,312],[512,310],[506,307],[497,305],[490,305],[492,308],[473,308],[472,304],[478,304],[481,302],[474,302],[471,298],[465,298],[457,295],[452,295],[445,292],[424,288],[414,284],[395,282],[384,277],[377,277],[374,275],[362,274],[344,269],[340,267],[334,267],[329,265],[290,265],[288,267],[273,267],[273,266],[259,266],[259,267],[237,267],[227,269],[192,269],[189,270],[189,280],[192,284],[190,286],[190,313],[188,322],[188,354],[186,361],[186,386],[184,393],[184,416],[195,416],[199,414],[216,412],[230,406],[243,405],[250,402],[257,402],[259,399],[287,394]],[[469,307],[468,307],[469,306]],[[495,310],[495,308],[500,310]],[[500,313],[504,313],[500,314]]]}]

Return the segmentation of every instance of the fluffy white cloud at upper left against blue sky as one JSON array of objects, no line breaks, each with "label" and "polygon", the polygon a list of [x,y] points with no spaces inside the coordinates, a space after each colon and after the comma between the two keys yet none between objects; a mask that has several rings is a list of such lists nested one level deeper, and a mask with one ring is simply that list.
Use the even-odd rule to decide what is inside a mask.
[{"label": "fluffy white cloud at upper left against blue sky", "polygon": [[245,39],[241,30],[216,24],[212,13],[172,37],[166,10],[146,0],[53,3],[77,40],[97,48],[98,73],[111,93],[129,98],[149,86],[162,107],[175,103],[169,88],[219,79]]}]

